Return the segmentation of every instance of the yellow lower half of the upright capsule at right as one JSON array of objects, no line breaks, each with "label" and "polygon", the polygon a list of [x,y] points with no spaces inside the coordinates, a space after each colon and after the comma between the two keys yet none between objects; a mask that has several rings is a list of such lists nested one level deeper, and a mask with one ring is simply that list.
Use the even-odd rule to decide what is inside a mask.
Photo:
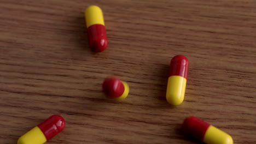
[{"label": "yellow lower half of the upright capsule at right", "polygon": [[173,75],[168,78],[166,100],[171,105],[179,105],[184,100],[187,79]]}]

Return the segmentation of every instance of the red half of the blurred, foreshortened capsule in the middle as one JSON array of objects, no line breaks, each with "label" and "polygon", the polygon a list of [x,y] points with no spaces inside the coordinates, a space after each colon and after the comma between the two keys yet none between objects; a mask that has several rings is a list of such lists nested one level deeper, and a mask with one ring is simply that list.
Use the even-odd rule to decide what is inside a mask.
[{"label": "red half of the blurred, foreshortened capsule in the middle", "polygon": [[117,77],[107,77],[102,88],[103,92],[112,98],[120,97],[125,91],[124,84]]}]

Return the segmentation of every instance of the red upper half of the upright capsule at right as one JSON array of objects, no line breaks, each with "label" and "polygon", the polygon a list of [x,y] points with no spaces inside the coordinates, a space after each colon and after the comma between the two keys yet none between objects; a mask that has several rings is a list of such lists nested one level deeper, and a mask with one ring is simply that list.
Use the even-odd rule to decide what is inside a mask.
[{"label": "red upper half of the upright capsule at right", "polygon": [[172,75],[178,75],[188,78],[188,66],[189,61],[188,58],[182,55],[174,56],[171,60],[170,70],[168,77]]}]

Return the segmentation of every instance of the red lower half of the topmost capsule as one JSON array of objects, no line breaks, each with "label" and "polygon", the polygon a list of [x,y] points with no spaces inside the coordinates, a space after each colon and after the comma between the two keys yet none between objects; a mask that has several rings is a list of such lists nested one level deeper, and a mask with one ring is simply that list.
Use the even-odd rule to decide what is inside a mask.
[{"label": "red lower half of the topmost capsule", "polygon": [[105,26],[101,24],[91,25],[87,28],[89,46],[94,52],[101,52],[107,48],[108,40]]}]

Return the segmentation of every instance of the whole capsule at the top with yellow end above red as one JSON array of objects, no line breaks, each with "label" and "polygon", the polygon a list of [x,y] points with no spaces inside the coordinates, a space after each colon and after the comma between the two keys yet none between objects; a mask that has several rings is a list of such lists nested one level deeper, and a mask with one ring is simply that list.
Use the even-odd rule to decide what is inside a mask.
[{"label": "whole capsule at the top with yellow end above red", "polygon": [[85,10],[88,41],[91,50],[101,52],[107,48],[108,40],[101,8],[91,5]]}]

